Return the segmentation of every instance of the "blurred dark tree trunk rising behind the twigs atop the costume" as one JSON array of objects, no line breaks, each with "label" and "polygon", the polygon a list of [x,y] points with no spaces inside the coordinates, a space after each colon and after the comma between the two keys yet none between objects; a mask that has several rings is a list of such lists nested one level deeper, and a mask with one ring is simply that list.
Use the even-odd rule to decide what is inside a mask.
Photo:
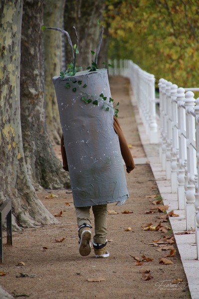
[{"label": "blurred dark tree trunk rising behind the twigs atop the costume", "polygon": [[[82,66],[84,69],[91,65],[91,61],[95,58],[90,50],[96,52],[97,49],[100,35],[100,26],[97,24],[97,20],[102,19],[104,2],[102,0],[67,0],[65,4],[64,27],[71,35],[73,44],[76,43],[76,38],[72,27],[75,26],[77,29],[79,37],[77,66]],[[99,67],[104,67],[101,64],[104,61],[103,58],[99,55]],[[71,50],[66,41],[66,68],[71,61]]]}]

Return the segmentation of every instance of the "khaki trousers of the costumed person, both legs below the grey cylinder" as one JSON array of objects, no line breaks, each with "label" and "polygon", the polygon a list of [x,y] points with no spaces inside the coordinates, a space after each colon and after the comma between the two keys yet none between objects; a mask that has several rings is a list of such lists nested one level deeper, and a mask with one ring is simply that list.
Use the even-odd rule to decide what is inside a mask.
[{"label": "khaki trousers of the costumed person, both legs below the grey cylinder", "polygon": [[[77,225],[80,227],[84,223],[91,225],[90,207],[75,207],[77,215]],[[95,219],[95,235],[93,242],[98,244],[106,243],[107,239],[107,205],[92,206]]]}]

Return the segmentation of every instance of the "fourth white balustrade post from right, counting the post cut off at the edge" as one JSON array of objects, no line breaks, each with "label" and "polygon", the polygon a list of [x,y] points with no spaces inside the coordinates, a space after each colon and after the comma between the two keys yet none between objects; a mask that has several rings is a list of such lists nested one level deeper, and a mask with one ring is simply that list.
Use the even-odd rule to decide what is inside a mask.
[{"label": "fourth white balustrade post from right, counting the post cut off at the edge", "polygon": [[172,193],[177,193],[178,191],[178,164],[177,164],[177,154],[179,149],[178,144],[178,107],[177,107],[177,89],[178,86],[173,84],[171,86],[171,119],[172,119],[172,153],[171,153],[171,191]]}]

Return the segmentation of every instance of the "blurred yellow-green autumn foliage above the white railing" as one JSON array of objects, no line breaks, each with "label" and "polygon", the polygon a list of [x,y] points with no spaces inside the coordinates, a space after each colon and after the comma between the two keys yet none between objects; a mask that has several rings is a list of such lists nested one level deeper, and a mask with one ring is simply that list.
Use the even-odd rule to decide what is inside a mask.
[{"label": "blurred yellow-green autumn foliage above the white railing", "polygon": [[111,59],[132,59],[179,87],[199,85],[199,0],[106,2]]}]

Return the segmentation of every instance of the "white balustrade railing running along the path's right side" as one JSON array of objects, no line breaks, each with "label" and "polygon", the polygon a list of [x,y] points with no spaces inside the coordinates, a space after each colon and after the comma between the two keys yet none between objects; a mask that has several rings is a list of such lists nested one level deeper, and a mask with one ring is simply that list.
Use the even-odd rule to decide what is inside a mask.
[{"label": "white balustrade railing running along the path's right side", "polygon": [[[111,62],[110,62],[111,63]],[[160,127],[155,109],[155,77],[131,60],[114,61],[110,75],[131,81],[139,113],[150,137],[160,142],[160,163],[171,180],[171,193],[178,195],[178,209],[185,210],[186,229],[196,230],[199,260],[199,88],[178,88],[165,79],[159,81]],[[160,133],[160,139],[158,135]]]}]

